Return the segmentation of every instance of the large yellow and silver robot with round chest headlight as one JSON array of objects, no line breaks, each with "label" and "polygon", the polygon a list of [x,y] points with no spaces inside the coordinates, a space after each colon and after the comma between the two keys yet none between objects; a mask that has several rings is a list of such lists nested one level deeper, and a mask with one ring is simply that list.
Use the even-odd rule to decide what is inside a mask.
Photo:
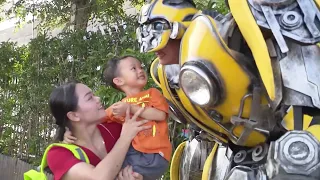
[{"label": "large yellow and silver robot with round chest headlight", "polygon": [[224,16],[192,0],[141,9],[141,52],[193,133],[171,180],[320,179],[320,1],[226,3]]}]

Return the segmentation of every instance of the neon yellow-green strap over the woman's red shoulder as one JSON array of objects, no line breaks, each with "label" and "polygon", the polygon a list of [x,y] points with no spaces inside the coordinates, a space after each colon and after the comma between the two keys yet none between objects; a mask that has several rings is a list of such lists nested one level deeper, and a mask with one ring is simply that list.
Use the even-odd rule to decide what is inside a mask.
[{"label": "neon yellow-green strap over the woman's red shoulder", "polygon": [[79,146],[76,146],[73,144],[53,143],[53,144],[50,144],[44,151],[39,171],[29,170],[28,172],[24,173],[24,180],[47,180],[47,177],[44,173],[44,169],[48,166],[48,163],[47,163],[48,152],[54,146],[64,147],[69,151],[71,151],[72,154],[77,159],[86,163],[90,163],[87,154]]}]

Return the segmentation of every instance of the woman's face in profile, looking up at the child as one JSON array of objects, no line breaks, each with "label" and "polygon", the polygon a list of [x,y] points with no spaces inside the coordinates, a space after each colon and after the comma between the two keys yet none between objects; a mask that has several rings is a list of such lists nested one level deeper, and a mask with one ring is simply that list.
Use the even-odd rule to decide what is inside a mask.
[{"label": "woman's face in profile, looking up at the child", "polygon": [[75,92],[78,96],[78,108],[75,111],[78,119],[88,123],[101,122],[106,112],[100,98],[95,96],[89,87],[80,83],[76,85]]}]

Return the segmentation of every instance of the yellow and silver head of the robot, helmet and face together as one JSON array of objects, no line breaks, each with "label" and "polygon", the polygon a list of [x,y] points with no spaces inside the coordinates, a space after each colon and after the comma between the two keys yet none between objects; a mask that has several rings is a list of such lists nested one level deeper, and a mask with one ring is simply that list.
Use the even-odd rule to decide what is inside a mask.
[{"label": "yellow and silver head of the robot, helmet and face together", "polygon": [[177,39],[174,24],[190,21],[197,12],[192,0],[152,0],[145,4],[136,31],[140,51],[158,51],[170,38]]}]

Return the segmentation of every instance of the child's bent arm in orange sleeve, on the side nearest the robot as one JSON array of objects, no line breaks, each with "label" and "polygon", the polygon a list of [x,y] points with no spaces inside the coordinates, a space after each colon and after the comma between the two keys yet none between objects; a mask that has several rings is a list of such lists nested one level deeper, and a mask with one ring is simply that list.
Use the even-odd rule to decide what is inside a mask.
[{"label": "child's bent arm in orange sleeve, on the side nearest the robot", "polygon": [[[148,107],[140,114],[140,118],[152,119],[155,121],[166,120],[169,111],[167,100],[163,97],[159,90],[155,88],[150,89],[150,101]],[[130,105],[130,110],[135,113],[139,110],[138,105]]]}]

